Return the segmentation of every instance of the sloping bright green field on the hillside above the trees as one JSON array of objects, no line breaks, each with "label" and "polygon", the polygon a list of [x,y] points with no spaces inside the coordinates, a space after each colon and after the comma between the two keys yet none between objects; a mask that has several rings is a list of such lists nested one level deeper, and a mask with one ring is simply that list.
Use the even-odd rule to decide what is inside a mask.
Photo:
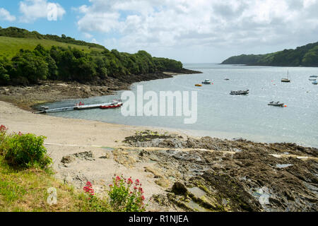
[{"label": "sloping bright green field on the hillside above the trees", "polygon": [[102,52],[103,49],[98,49],[95,47],[87,47],[76,44],[69,44],[64,42],[56,42],[51,40],[37,40],[32,38],[20,38],[20,37],[4,37],[0,36],[0,58],[7,57],[11,59],[14,57],[20,49],[33,50],[37,44],[42,44],[45,49],[50,49],[53,45],[57,47],[74,47],[76,49],[81,49],[84,52],[89,53],[90,51]]}]

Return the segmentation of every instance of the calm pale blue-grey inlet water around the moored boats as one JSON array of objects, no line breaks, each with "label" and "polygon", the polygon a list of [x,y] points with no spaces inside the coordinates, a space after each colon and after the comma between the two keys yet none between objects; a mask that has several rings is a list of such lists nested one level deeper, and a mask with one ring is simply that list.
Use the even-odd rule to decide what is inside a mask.
[{"label": "calm pale blue-grey inlet water around the moored boats", "polygon": [[[184,117],[124,117],[120,109],[90,109],[58,112],[51,115],[76,119],[93,119],[135,126],[158,126],[186,131],[195,136],[247,138],[259,142],[293,142],[318,147],[318,85],[312,85],[310,75],[317,68],[224,66],[217,64],[185,64],[185,68],[203,74],[181,75],[163,80],[135,83],[144,92],[165,90],[198,90],[198,120],[183,124]],[[291,83],[281,83],[289,71]],[[213,85],[194,87],[204,79]],[[224,78],[230,78],[225,81]],[[229,95],[230,90],[249,89],[249,95]],[[75,102],[108,102],[117,95],[92,97],[86,100],[66,100],[47,106],[71,106]],[[271,107],[270,101],[284,102],[287,107]]]}]

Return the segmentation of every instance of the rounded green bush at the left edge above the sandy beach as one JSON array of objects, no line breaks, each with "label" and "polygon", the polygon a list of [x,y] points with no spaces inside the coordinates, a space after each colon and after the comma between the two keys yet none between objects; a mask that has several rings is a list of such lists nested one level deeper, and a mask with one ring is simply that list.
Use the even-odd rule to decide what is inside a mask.
[{"label": "rounded green bush at the left edge above the sandy beach", "polygon": [[43,142],[45,136],[14,133],[7,136],[1,144],[5,160],[9,165],[21,168],[46,168],[52,163]]}]

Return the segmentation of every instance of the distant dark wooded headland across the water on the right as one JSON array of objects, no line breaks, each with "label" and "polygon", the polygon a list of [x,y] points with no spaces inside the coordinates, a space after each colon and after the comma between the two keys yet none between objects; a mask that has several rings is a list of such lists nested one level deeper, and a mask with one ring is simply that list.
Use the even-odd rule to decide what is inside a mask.
[{"label": "distant dark wooded headland across the water on the right", "polygon": [[250,66],[318,66],[318,42],[306,44],[296,49],[262,55],[230,57],[222,64],[246,64]]}]

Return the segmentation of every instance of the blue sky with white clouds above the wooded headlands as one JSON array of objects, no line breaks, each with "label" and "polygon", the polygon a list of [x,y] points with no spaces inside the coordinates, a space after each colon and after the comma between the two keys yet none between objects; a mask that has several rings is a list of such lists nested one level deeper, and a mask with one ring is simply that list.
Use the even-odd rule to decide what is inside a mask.
[{"label": "blue sky with white clouds above the wooded headlands", "polygon": [[318,0],[0,0],[0,26],[220,63],[318,41]]}]

